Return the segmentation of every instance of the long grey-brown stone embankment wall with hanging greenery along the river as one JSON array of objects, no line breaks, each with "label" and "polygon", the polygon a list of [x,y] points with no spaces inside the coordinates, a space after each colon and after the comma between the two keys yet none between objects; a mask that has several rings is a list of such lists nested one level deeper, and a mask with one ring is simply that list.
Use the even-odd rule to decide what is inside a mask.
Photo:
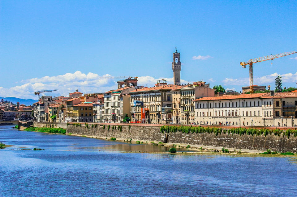
[{"label": "long grey-brown stone embankment wall with hanging greenery along the river", "polygon": [[[98,124],[88,123],[88,127],[84,124],[81,126],[73,126],[70,124],[67,126],[67,123],[51,123],[54,124],[54,127],[67,128],[67,133],[78,134],[78,135],[87,135],[87,136],[97,136],[97,137],[115,137],[117,139],[133,139],[140,140],[143,142],[168,142],[168,143],[181,143],[186,145],[201,145],[201,146],[216,146],[216,147],[225,147],[236,149],[248,149],[248,150],[263,150],[266,151],[270,149],[272,151],[278,152],[297,152],[297,137],[290,136],[289,138],[285,135],[276,136],[274,134],[256,136],[256,135],[239,135],[228,133],[218,133],[217,136],[215,133],[161,133],[161,125],[152,125],[152,124],[117,124],[117,123],[107,123],[107,124]],[[34,122],[34,126],[37,127],[49,127],[49,123],[39,123]],[[105,125],[105,129],[103,129]],[[108,129],[108,125],[110,128]],[[112,128],[114,126],[114,129]],[[118,126],[121,129],[118,129]],[[231,128],[231,127],[230,127]],[[234,127],[232,127],[234,128]],[[229,129],[229,128],[224,128]],[[272,128],[269,128],[272,129]],[[282,129],[282,128],[281,128]],[[285,130],[285,128],[283,128]],[[288,129],[288,128],[286,128]],[[295,129],[295,128],[294,128]]]}]

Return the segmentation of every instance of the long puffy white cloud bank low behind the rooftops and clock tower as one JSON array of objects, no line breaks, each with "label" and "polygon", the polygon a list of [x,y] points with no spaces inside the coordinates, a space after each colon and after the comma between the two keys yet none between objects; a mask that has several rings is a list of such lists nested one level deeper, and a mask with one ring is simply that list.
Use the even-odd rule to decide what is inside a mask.
[{"label": "long puffy white cloud bank low behind the rooftops and clock tower", "polygon": [[[41,78],[32,78],[17,82],[18,85],[11,88],[0,87],[1,97],[18,97],[23,99],[37,100],[34,92],[38,90],[59,89],[54,92],[40,93],[40,96],[69,96],[75,89],[82,93],[107,92],[118,88],[116,81],[123,80],[113,77],[109,74],[99,76],[96,73],[88,74],[76,71],[58,76],[44,76]],[[166,80],[167,84],[173,84],[173,78],[155,78],[153,76],[138,77],[138,85],[154,87],[158,80]],[[181,84],[188,84],[186,80],[181,80]]]}]

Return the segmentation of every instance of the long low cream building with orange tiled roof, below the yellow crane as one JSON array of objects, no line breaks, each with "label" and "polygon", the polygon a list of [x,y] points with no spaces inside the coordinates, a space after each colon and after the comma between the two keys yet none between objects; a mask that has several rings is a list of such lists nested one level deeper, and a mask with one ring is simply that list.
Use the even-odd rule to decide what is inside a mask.
[{"label": "long low cream building with orange tiled roof, below the yellow crane", "polygon": [[297,93],[202,97],[194,100],[199,125],[295,126]]}]

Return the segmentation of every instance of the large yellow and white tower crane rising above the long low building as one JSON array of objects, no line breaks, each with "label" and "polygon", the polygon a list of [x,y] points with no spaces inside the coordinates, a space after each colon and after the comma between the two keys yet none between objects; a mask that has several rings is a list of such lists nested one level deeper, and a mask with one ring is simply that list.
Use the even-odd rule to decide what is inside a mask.
[{"label": "large yellow and white tower crane rising above the long low building", "polygon": [[292,51],[292,52],[285,52],[277,55],[267,55],[264,57],[248,60],[247,62],[240,62],[240,66],[242,66],[242,68],[245,68],[246,65],[250,65],[250,93],[254,93],[254,81],[253,81],[253,64],[254,63],[263,62],[266,60],[274,60],[275,58],[283,57],[286,55],[292,55],[294,53],[297,53],[297,52]]}]

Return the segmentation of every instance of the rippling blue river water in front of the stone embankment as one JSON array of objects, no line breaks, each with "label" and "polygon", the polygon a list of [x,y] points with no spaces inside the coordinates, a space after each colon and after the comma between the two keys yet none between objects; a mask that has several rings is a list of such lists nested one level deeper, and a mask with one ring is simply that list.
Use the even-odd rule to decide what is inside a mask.
[{"label": "rippling blue river water in front of the stone embankment", "polygon": [[0,126],[0,142],[12,145],[0,149],[3,197],[296,196],[297,192],[294,157],[167,154],[161,153],[168,151],[164,146],[18,131],[11,126]]}]

